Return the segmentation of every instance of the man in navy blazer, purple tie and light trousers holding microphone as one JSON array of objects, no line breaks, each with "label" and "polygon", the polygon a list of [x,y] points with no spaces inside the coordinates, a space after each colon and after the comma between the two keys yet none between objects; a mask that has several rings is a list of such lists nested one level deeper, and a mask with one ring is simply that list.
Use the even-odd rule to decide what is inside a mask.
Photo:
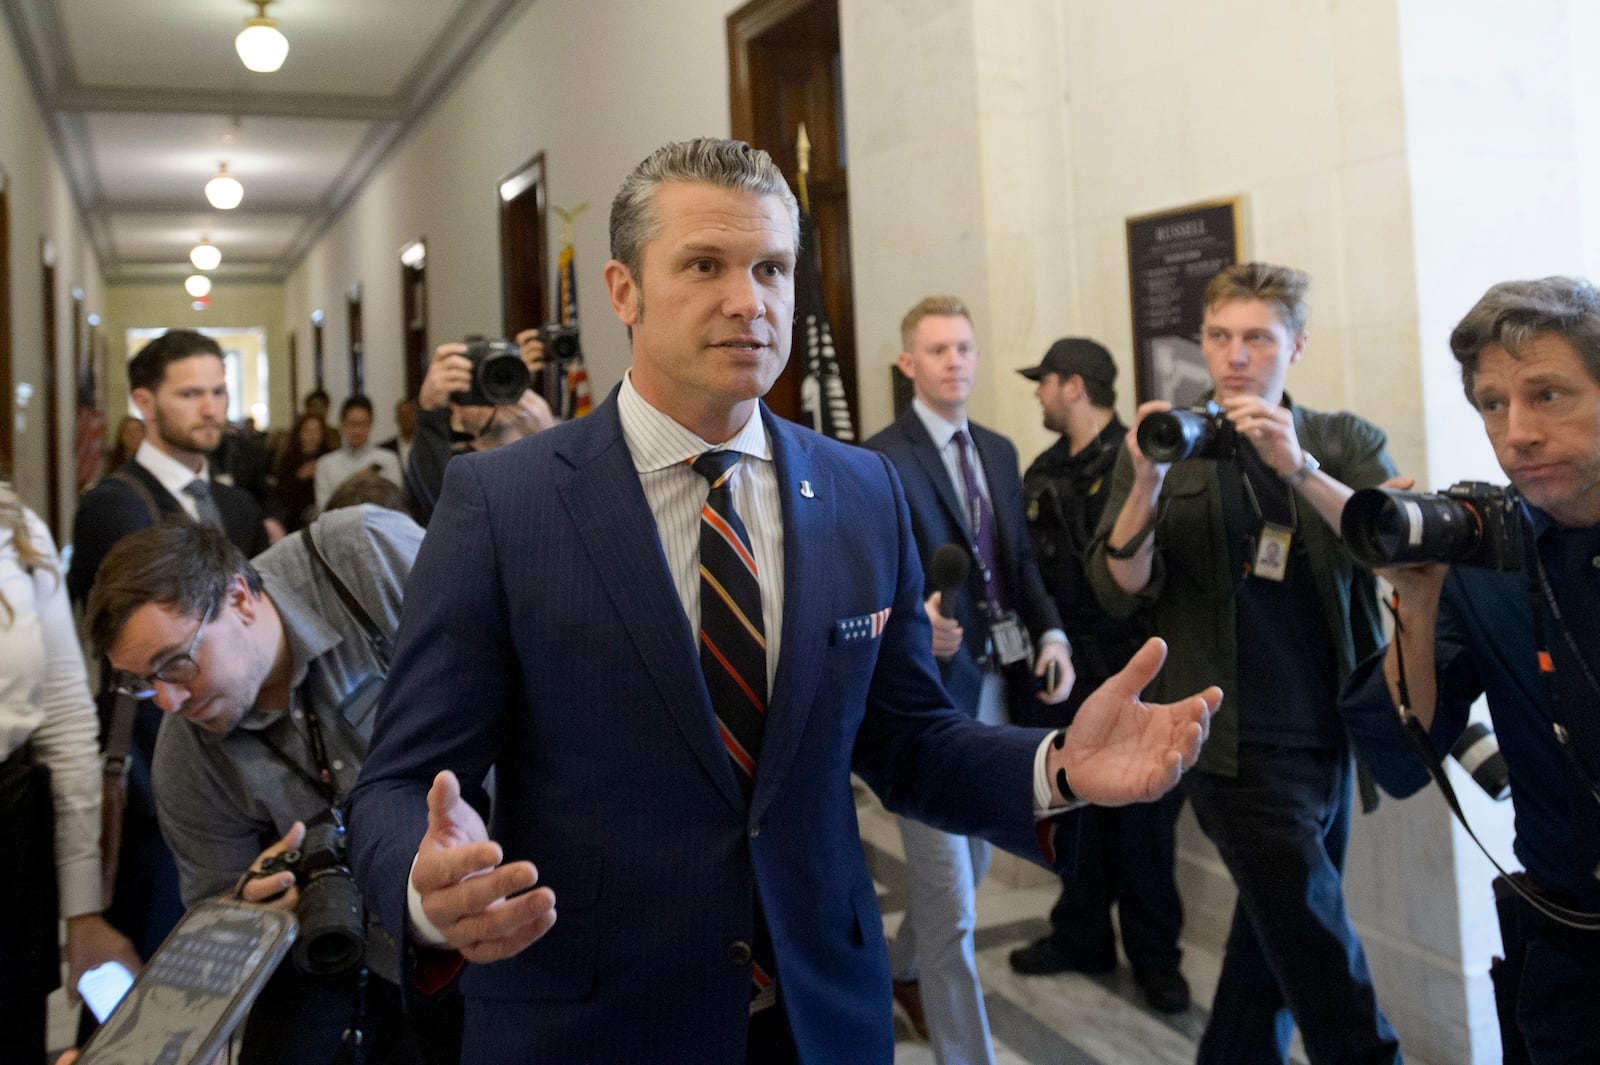
[{"label": "man in navy blazer, purple tie and light trousers holding microphone", "polygon": [[[912,405],[867,446],[888,456],[899,473],[923,569],[946,544],[971,558],[958,588],[930,588],[933,651],[950,702],[1000,724],[1010,720],[1011,697],[1056,704],[1072,691],[1074,678],[1061,616],[1029,544],[1016,448],[966,419],[978,353],[973,318],[960,299],[930,296],[912,307],[901,320],[899,353]],[[941,603],[944,596],[952,601]],[[1042,689],[1051,664],[1056,683]],[[925,1017],[939,1065],[992,1063],[973,948],[989,843],[904,816],[898,820],[910,900],[890,948],[894,995],[907,1003],[914,1023],[918,1012]],[[914,987],[920,995],[910,993]]]}]

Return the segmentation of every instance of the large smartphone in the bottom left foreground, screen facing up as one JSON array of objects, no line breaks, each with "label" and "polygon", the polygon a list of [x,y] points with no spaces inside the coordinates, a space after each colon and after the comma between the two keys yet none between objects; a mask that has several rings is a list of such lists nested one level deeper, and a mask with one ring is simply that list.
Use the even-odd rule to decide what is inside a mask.
[{"label": "large smartphone in the bottom left foreground, screen facing up", "polygon": [[294,915],[208,899],[133,980],[78,1065],[208,1065],[294,942]]}]

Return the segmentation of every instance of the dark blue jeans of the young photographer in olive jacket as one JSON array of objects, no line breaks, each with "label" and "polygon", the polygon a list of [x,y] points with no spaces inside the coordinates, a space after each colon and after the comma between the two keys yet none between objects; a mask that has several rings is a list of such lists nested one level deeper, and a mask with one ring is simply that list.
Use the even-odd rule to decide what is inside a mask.
[{"label": "dark blue jeans of the young photographer in olive jacket", "polygon": [[1296,1023],[1314,1065],[1402,1060],[1344,908],[1354,776],[1344,750],[1240,744],[1237,777],[1184,779],[1238,888],[1198,1065],[1282,1063]]}]

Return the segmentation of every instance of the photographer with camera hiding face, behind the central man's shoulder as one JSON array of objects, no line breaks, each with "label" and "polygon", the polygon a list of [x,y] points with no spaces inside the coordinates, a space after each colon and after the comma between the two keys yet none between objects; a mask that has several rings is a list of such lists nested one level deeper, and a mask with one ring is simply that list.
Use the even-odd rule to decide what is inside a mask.
[{"label": "photographer with camera hiding face, behind the central man's shoulder", "polygon": [[546,336],[563,349],[578,345],[576,331],[547,326],[523,329],[515,344],[467,337],[434,349],[416,397],[416,438],[405,469],[418,521],[427,525],[432,517],[454,456],[493,451],[555,424],[549,401],[531,387],[546,361]]}]

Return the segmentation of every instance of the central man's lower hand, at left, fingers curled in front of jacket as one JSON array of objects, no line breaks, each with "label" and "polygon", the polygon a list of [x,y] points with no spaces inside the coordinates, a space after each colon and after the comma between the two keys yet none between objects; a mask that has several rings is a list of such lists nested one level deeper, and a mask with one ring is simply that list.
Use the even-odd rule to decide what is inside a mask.
[{"label": "central man's lower hand, at left, fingers curled in front of jacket", "polygon": [[533,888],[539,878],[533,862],[502,865],[504,857],[483,819],[461,798],[456,774],[434,777],[411,884],[422,897],[422,913],[467,961],[510,958],[555,924],[555,892]]}]

